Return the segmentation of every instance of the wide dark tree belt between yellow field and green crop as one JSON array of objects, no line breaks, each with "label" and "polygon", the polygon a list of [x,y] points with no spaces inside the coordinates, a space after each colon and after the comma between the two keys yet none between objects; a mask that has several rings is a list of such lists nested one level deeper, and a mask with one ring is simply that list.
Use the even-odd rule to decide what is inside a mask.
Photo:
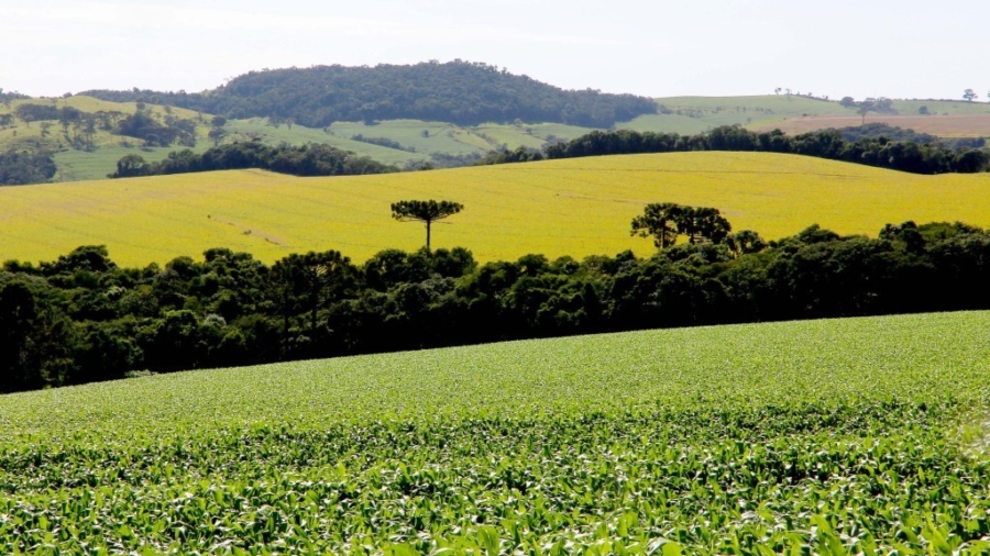
[{"label": "wide dark tree belt between yellow field and green crop", "polygon": [[990,233],[964,224],[730,238],[649,258],[481,266],[463,248],[384,251],[362,265],[330,251],[267,266],[217,248],[119,268],[98,246],[37,266],[7,262],[0,391],[526,337],[990,309]]}]

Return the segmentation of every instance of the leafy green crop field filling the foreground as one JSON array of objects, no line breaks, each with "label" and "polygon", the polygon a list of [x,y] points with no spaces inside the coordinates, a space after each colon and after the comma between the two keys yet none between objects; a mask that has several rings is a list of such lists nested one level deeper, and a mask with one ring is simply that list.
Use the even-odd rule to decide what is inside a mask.
[{"label": "leafy green crop field filling the foreground", "polygon": [[990,549],[990,312],[0,397],[7,554]]}]

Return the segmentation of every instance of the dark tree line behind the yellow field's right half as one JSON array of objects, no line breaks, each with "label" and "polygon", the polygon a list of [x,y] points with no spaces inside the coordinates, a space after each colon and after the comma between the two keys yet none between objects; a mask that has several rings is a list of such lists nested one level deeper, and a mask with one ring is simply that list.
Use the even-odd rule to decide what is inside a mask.
[{"label": "dark tree line behind the yellow field's right half", "polygon": [[595,131],[566,143],[550,145],[544,153],[517,149],[486,159],[488,164],[541,158],[678,153],[690,151],[736,151],[785,153],[829,160],[865,164],[912,174],[972,174],[990,168],[990,154],[982,149],[953,149],[942,143],[892,141],[886,136],[864,136],[847,141],[836,130],[787,135],[780,130],[752,132],[739,126],[722,126],[698,135],[638,133],[628,130]]}]

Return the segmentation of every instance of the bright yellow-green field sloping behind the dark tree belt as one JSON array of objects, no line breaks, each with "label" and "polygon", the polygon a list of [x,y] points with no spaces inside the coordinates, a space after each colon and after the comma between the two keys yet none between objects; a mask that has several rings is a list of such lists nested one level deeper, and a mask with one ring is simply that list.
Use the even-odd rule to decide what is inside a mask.
[{"label": "bright yellow-green field sloping behind the dark tree belt", "polygon": [[791,235],[812,223],[875,236],[888,222],[990,226],[990,175],[915,176],[769,153],[676,153],[550,160],[385,176],[296,178],[256,170],[0,188],[0,259],[51,260],[105,244],[143,266],[209,247],[265,262],[338,249],[361,262],[416,249],[418,223],[392,220],[403,199],[464,203],[433,226],[433,247],[480,260],[527,253],[583,257],[631,248],[629,221],[649,202],[721,209],[736,230]]}]

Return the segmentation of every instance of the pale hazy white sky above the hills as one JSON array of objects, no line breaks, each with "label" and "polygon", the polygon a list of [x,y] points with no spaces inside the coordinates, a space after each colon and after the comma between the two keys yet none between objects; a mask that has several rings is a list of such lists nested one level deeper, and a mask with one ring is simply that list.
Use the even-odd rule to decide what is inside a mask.
[{"label": "pale hazy white sky above the hills", "polygon": [[265,67],[462,58],[651,97],[990,90],[990,2],[0,0],[0,88],[199,91]]}]

